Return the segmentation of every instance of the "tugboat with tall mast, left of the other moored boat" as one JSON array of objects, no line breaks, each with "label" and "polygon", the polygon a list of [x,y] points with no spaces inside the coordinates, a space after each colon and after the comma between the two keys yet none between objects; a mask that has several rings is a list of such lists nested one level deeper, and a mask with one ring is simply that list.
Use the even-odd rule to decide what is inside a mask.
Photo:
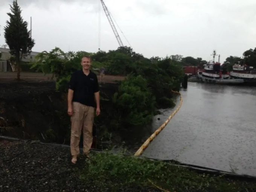
[{"label": "tugboat with tall mast, left of the other moored boat", "polygon": [[198,77],[202,82],[213,84],[241,84],[243,79],[231,79],[225,68],[220,64],[220,55],[218,62],[215,62],[216,51],[213,50],[213,60],[204,65],[203,71],[198,71]]}]

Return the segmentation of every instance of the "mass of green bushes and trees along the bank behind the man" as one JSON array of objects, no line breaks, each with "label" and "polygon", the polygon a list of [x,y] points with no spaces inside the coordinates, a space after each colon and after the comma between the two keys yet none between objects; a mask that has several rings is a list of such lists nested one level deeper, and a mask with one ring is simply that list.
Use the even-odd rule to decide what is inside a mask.
[{"label": "mass of green bushes and trees along the bank behind the man", "polygon": [[[95,117],[94,123],[98,140],[108,145],[111,139],[114,145],[122,141],[126,141],[125,145],[132,145],[134,139],[131,138],[142,140],[145,132],[149,132],[146,136],[150,136],[152,131],[146,127],[152,123],[152,117],[159,113],[160,108],[175,106],[176,94],[171,90],[179,91],[183,81],[184,72],[180,61],[171,57],[148,59],[130,47],[97,53],[65,53],[55,47],[50,52],[38,54],[30,69],[45,75],[53,74],[56,91],[66,94],[70,76],[81,69],[84,55],[91,56],[95,73],[98,74],[98,70],[104,67],[106,75],[123,76],[123,80],[112,85],[100,83],[101,115]],[[65,139],[69,141],[69,138]]]}]

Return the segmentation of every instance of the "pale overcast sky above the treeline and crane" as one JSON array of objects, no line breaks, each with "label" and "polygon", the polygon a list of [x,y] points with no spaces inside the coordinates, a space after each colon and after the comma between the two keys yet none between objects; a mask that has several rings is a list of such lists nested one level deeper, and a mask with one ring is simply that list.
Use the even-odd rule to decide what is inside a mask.
[{"label": "pale overcast sky above the treeline and crane", "polygon": [[[0,3],[0,45],[5,44],[3,26],[11,2]],[[24,20],[30,24],[32,17],[34,51],[56,46],[65,52],[97,52],[119,46],[99,0],[18,3]],[[146,57],[180,54],[209,60],[215,49],[223,62],[256,47],[255,0],[105,0],[105,4],[120,27],[116,26],[123,44],[129,46],[126,37],[134,51]]]}]

